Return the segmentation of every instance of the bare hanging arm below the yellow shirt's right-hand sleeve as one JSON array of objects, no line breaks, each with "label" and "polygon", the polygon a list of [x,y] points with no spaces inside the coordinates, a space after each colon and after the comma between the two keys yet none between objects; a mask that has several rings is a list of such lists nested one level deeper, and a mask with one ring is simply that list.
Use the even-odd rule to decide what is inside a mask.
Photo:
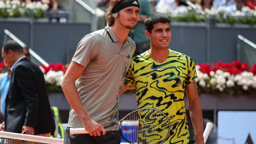
[{"label": "bare hanging arm below the yellow shirt's right-hand sleeve", "polygon": [[195,131],[195,144],[204,144],[202,108],[196,82],[193,81],[186,85],[185,90],[189,101],[190,117]]}]

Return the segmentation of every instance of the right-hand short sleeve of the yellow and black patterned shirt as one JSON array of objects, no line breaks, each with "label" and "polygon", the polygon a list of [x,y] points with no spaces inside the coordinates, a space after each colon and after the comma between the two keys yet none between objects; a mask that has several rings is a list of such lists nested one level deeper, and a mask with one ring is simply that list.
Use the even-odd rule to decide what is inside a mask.
[{"label": "right-hand short sleeve of the yellow and black patterned shirt", "polygon": [[187,75],[186,81],[185,81],[186,85],[192,83],[193,81],[195,81],[197,79],[194,61],[189,56],[187,56],[187,62],[188,62],[188,65],[187,65],[188,75]]}]

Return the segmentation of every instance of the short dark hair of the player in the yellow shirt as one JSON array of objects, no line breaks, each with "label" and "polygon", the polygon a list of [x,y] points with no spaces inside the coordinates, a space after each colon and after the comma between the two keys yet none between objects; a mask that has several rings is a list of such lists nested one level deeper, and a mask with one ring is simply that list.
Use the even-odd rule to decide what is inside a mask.
[{"label": "short dark hair of the player in the yellow shirt", "polygon": [[169,23],[170,25],[170,20],[168,19],[168,17],[162,13],[159,12],[154,12],[149,14],[146,19],[145,19],[145,28],[147,31],[149,31],[151,33],[154,24],[157,23]]}]

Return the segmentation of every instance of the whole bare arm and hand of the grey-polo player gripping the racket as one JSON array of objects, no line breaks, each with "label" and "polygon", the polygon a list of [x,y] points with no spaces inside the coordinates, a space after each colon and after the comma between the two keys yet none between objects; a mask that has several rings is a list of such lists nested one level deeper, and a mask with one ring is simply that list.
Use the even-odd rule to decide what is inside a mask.
[{"label": "whole bare arm and hand of the grey-polo player gripping the racket", "polygon": [[95,122],[90,118],[86,109],[83,107],[75,85],[75,81],[80,77],[84,69],[85,68],[82,65],[72,61],[61,81],[61,87],[67,101],[83,122],[83,126],[86,131],[89,132],[90,136],[100,136],[101,131],[104,135],[106,134],[106,130],[98,122]]}]

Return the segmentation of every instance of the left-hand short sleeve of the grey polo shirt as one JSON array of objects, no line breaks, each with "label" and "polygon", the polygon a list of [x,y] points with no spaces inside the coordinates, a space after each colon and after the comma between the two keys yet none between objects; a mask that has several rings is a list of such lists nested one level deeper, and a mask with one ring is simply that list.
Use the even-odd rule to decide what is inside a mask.
[{"label": "left-hand short sleeve of the grey polo shirt", "polygon": [[72,61],[86,67],[98,55],[98,49],[97,40],[92,34],[88,34],[78,43]]}]

